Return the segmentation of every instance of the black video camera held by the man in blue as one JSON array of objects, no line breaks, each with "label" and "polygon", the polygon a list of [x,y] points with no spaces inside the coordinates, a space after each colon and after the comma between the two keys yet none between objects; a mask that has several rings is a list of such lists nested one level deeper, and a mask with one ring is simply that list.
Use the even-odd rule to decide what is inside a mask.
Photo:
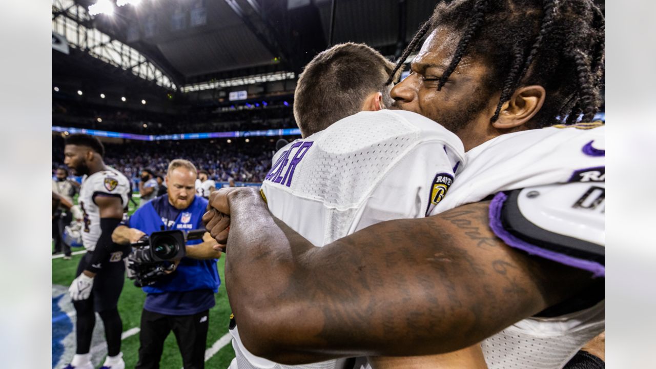
[{"label": "black video camera held by the man in blue", "polygon": [[204,229],[188,232],[182,230],[161,230],[143,236],[131,244],[132,253],[127,257],[127,276],[134,280],[134,286],[150,286],[175,270],[175,259],[186,254],[187,241],[200,240]]}]

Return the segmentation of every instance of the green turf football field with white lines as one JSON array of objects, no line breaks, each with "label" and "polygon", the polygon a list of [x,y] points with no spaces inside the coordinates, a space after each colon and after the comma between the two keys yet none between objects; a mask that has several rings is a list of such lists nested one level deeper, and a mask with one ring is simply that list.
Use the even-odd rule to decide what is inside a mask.
[{"label": "green turf football field with white lines", "polygon": [[[134,200],[136,200],[136,202],[138,203],[139,199],[135,198]],[[131,214],[134,211],[134,207],[133,204],[130,205],[131,207],[129,209],[129,213]],[[83,249],[73,248],[73,252],[80,251],[80,250]],[[62,258],[52,259],[53,301],[55,301],[54,298],[56,297],[54,295],[55,290],[58,291],[58,295],[62,295],[63,293],[62,291],[64,290],[64,288],[68,289],[68,286],[70,286],[71,282],[75,278],[77,263],[79,263],[79,259],[82,257],[82,255],[83,253],[80,253],[78,255],[73,255],[71,260],[64,260]],[[228,305],[228,296],[226,294],[226,288],[224,287],[223,267],[224,267],[224,259],[220,259],[218,262],[218,272],[221,277],[221,286],[218,290],[218,293],[216,293],[216,306],[213,307],[213,309],[211,309],[209,313],[209,332],[207,334],[207,349],[210,350],[209,352],[206,350],[205,366],[207,368],[227,368],[228,365],[230,365],[230,361],[235,356],[234,351],[232,349],[232,345],[230,344],[230,341],[227,339],[227,337],[219,342],[219,339],[221,339],[226,334],[228,334],[228,324],[230,322],[230,305]],[[146,293],[142,292],[140,288],[134,287],[133,281],[126,278],[125,286],[123,287],[123,292],[121,293],[121,297],[119,299],[119,304],[118,304],[119,313],[121,314],[121,319],[123,320],[124,336],[128,336],[128,337],[124,337],[123,343],[121,345],[121,351],[123,352],[123,359],[125,360],[126,368],[134,368],[138,360],[139,334],[138,333],[134,334],[136,330],[133,328],[139,327],[141,311],[145,299],[146,299]],[[55,303],[53,302],[53,306],[54,305]],[[68,309],[71,308],[72,307],[69,307]],[[64,311],[64,313],[66,313],[66,311]],[[72,358],[72,353],[74,353],[74,349],[75,349],[74,313],[70,319],[72,320],[73,323],[73,330],[72,332],[69,333],[68,338],[62,341],[62,343],[64,343],[65,353],[61,357],[59,366],[56,366],[57,368],[62,366],[61,365],[62,363],[64,363],[64,365],[68,363],[68,361],[70,361],[70,358]],[[56,336],[55,320],[56,319],[55,319],[55,313],[53,307],[53,324],[52,324],[53,356],[55,351],[54,347],[55,347],[55,336]],[[96,316],[96,326],[98,325],[102,326],[102,320],[100,320],[100,318]],[[71,336],[73,337],[73,339],[71,338]],[[69,347],[66,347],[67,344]],[[70,347],[71,345],[73,347]],[[221,345],[224,346],[218,351],[216,351],[215,349],[211,349],[213,345],[215,346],[215,349],[216,347],[220,347]],[[93,346],[94,343],[92,343],[92,347]],[[92,352],[93,351],[94,349],[92,348]],[[214,351],[216,351],[216,353],[214,353]],[[107,353],[106,348],[104,348],[104,351],[102,351],[102,353],[98,355],[101,355],[102,360],[104,360],[104,356],[106,355],[106,353]],[[213,353],[213,355],[211,355],[211,357],[208,358],[208,355],[210,353]],[[55,364],[56,362],[54,362],[53,360],[53,366]],[[96,364],[96,360],[94,360],[94,364]],[[102,364],[102,361],[100,361],[100,364]],[[100,364],[96,365],[96,367],[99,367]],[[160,361],[160,368],[163,369],[182,368],[182,358],[180,357],[180,351],[178,351],[178,346],[176,344],[173,332],[169,334],[169,337],[167,337],[165,341],[164,352]]]}]

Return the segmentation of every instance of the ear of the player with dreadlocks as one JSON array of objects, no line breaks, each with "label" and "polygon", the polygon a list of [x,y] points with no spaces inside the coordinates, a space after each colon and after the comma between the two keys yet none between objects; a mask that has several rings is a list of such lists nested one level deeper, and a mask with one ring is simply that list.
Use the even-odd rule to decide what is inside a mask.
[{"label": "ear of the player with dreadlocks", "polygon": [[496,129],[520,127],[540,111],[544,98],[546,98],[546,91],[540,85],[517,89],[510,100],[503,103],[499,119],[492,123],[492,126]]}]

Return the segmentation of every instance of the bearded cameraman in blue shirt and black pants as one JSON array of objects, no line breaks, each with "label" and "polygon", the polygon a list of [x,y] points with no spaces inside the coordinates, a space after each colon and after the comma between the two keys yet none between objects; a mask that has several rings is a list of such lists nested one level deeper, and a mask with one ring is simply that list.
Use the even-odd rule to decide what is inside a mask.
[{"label": "bearded cameraman in blue shirt and black pants", "polygon": [[[195,195],[197,171],[182,159],[169,163],[166,175],[168,193],[148,202],[117,227],[112,240],[117,244],[137,242],[159,230],[204,228],[201,218],[207,200]],[[220,252],[216,241],[206,232],[203,241],[189,241],[186,257],[171,274],[143,288],[148,293],[141,314],[139,361],[136,368],[159,368],[164,340],[173,330],[184,368],[203,368],[209,309],[220,280],[216,259]],[[193,259],[192,259],[193,258]]]}]

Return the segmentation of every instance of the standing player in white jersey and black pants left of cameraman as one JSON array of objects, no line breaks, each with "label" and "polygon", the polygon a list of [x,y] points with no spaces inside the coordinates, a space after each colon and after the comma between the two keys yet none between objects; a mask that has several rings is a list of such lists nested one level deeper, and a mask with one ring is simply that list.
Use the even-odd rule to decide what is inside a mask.
[{"label": "standing player in white jersey and black pants left of cameraman", "polygon": [[103,162],[104,146],[89,135],[70,135],[64,146],[64,163],[75,175],[83,175],[78,197],[83,212],[82,242],[87,253],[77,267],[68,291],[77,312],[77,349],[67,369],[92,369],[91,336],[98,313],[105,328],[108,356],[104,369],[123,369],[121,334],[123,322],[116,305],[123,290],[125,263],[131,249],[112,242],[112,232],[127,209],[130,183],[119,171]]}]

